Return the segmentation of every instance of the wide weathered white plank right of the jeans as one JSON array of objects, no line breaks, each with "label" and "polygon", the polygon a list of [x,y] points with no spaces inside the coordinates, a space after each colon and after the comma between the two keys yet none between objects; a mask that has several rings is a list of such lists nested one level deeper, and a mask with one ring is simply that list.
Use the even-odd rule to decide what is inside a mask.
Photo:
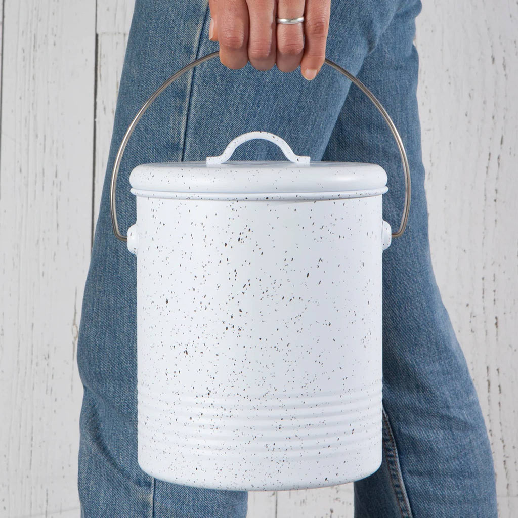
[{"label": "wide weathered white plank right of the jeans", "polygon": [[[441,0],[424,5],[418,32],[434,268],[479,394],[499,500],[513,506],[518,494],[517,18],[515,3]],[[469,23],[452,23],[463,19]]]}]

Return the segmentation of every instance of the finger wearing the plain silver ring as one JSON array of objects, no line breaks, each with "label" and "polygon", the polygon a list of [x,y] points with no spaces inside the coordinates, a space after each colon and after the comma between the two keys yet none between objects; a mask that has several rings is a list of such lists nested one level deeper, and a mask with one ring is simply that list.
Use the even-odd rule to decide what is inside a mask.
[{"label": "finger wearing the plain silver ring", "polygon": [[[279,0],[278,18],[299,18],[304,16],[305,0]],[[304,29],[302,23],[277,24],[277,68],[291,72],[299,65],[304,52]]]}]

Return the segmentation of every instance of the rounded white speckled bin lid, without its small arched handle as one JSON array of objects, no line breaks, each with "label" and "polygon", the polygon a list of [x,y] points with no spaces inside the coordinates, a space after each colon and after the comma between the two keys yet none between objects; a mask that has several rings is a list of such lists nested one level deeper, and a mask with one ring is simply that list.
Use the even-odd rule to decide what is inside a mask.
[{"label": "rounded white speckled bin lid, without its small arched handle", "polygon": [[[351,162],[228,161],[142,164],[132,171],[132,192],[141,196],[183,194],[303,194],[386,192],[387,176],[375,164]],[[363,194],[361,194],[363,193]],[[178,196],[175,196],[178,197]],[[303,195],[300,197],[304,197]]]}]

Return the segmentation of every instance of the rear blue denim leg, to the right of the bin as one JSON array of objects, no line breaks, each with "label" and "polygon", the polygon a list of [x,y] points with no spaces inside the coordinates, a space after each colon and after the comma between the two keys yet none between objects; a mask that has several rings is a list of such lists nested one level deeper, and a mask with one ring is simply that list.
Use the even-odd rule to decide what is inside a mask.
[{"label": "rear blue denim leg, to the right of the bin", "polygon": [[[416,3],[396,14],[358,74],[399,128],[412,171],[412,206],[406,233],[383,256],[384,463],[355,483],[355,515],[496,517],[484,420],[430,261],[416,102],[418,55],[412,45],[419,8]],[[389,176],[384,219],[396,228],[404,188],[398,151],[377,111],[356,89],[343,106],[324,159],[384,167]],[[392,442],[385,440],[387,431]]]}]

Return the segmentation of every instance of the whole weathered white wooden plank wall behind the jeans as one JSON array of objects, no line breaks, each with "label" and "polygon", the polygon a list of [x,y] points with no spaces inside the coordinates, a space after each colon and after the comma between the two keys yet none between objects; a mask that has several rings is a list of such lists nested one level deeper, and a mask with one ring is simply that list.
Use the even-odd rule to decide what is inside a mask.
[{"label": "whole weathered white wooden plank wall behind the jeans", "polygon": [[[0,516],[68,518],[79,312],[133,0],[0,8]],[[515,2],[425,2],[417,39],[434,266],[490,431],[502,518],[518,515],[517,20]],[[349,518],[351,486],[250,493],[249,508]]]}]

